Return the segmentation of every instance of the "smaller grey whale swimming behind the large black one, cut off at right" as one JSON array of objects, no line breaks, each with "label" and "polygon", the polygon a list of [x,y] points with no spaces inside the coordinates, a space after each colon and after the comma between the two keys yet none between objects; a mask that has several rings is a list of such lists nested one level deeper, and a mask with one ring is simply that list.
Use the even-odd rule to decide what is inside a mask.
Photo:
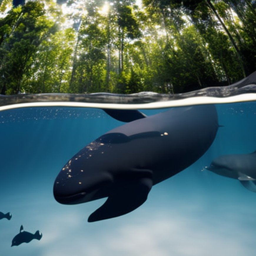
[{"label": "smaller grey whale swimming behind the large black one, cut off at right", "polygon": [[224,177],[237,179],[245,188],[256,192],[256,151],[217,157],[206,169]]}]

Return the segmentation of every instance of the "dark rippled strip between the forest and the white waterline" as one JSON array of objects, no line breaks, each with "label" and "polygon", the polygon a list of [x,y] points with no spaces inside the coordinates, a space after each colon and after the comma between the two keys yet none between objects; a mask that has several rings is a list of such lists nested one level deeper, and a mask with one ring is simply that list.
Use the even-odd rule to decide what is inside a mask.
[{"label": "dark rippled strip between the forest and the white waterline", "polygon": [[114,104],[143,104],[161,102],[190,97],[230,97],[246,93],[256,93],[256,71],[235,84],[224,87],[207,87],[197,91],[180,94],[158,94],[153,92],[140,92],[136,94],[16,94],[0,95],[0,106],[7,106],[29,102],[87,102],[87,103],[114,103]]}]

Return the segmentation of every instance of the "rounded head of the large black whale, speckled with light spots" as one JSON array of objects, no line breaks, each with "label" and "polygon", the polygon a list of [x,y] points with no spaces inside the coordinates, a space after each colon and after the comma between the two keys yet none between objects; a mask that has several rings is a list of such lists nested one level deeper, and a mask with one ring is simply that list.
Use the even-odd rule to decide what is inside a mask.
[{"label": "rounded head of the large black whale, speckled with light spots", "polygon": [[55,179],[53,194],[61,204],[80,204],[107,197],[112,177],[102,164],[108,145],[99,139],[91,142],[61,169]]}]

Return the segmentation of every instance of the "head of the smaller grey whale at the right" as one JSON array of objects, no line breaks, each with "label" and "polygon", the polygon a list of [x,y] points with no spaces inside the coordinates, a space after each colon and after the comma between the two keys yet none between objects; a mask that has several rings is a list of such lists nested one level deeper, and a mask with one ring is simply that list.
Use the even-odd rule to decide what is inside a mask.
[{"label": "head of the smaller grey whale at the right", "polygon": [[239,175],[234,168],[233,160],[231,156],[217,157],[206,169],[221,176],[237,179]]}]

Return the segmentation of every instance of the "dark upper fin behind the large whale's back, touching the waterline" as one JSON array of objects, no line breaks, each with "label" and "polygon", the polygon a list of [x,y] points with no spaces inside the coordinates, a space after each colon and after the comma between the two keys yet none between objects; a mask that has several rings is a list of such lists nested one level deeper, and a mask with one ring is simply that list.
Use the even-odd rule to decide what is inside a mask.
[{"label": "dark upper fin behind the large whale's back, touching the waterline", "polygon": [[121,122],[132,122],[137,119],[147,117],[136,109],[102,109],[108,115]]}]

